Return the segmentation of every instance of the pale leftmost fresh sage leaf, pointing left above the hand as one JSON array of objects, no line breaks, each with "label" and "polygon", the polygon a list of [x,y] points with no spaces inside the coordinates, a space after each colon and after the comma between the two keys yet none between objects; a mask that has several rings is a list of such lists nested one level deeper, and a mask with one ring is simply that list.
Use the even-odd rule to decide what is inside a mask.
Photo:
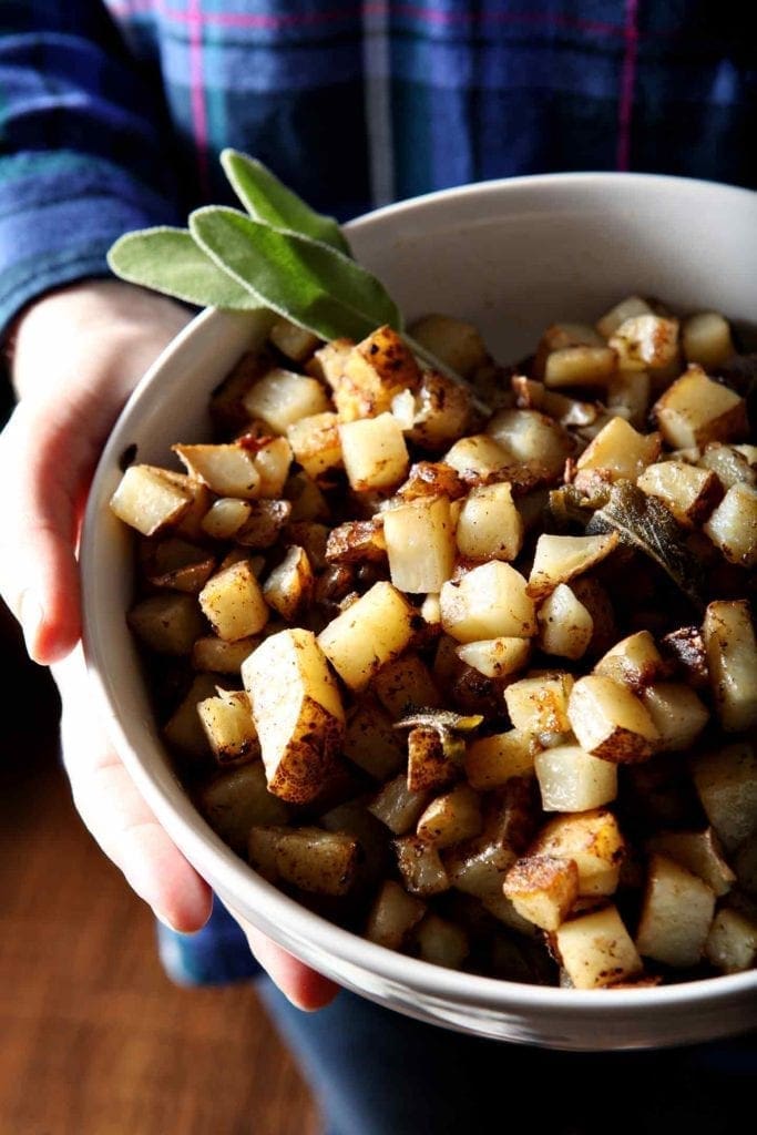
[{"label": "pale leftmost fresh sage leaf, pointing left above the hand", "polygon": [[111,245],[108,264],[129,284],[199,308],[249,311],[263,306],[259,296],[219,268],[183,228],[159,226],[127,233]]}]

